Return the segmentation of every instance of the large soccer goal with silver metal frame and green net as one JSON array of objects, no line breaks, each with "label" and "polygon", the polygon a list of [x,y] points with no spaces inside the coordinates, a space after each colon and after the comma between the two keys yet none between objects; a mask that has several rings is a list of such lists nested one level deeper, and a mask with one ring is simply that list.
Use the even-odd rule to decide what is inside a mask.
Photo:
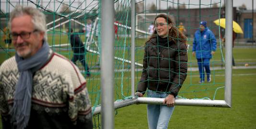
[{"label": "large soccer goal with silver metal frame and green net", "polygon": [[[202,107],[232,107],[232,14],[233,2],[226,0],[10,0],[1,1],[0,63],[15,54],[12,45],[2,42],[3,29],[8,25],[9,13],[20,4],[34,6],[47,16],[47,41],[57,53],[71,59],[67,29],[73,28],[87,52],[84,54],[91,76],[86,77],[93,106],[95,129],[112,129],[113,111],[132,104],[163,104],[163,98],[136,97],[144,56],[144,45],[150,38],[149,26],[158,14],[169,15],[177,28],[183,22],[187,44],[188,71],[186,80],[175,99],[175,105]],[[195,2],[197,1],[197,2]],[[221,27],[213,21],[226,18],[225,56],[222,52]],[[194,32],[200,21],[214,32],[217,49],[210,60],[211,81],[199,84],[198,64],[192,56]],[[225,63],[222,67],[222,62]],[[179,74],[179,73],[176,73]]]}]

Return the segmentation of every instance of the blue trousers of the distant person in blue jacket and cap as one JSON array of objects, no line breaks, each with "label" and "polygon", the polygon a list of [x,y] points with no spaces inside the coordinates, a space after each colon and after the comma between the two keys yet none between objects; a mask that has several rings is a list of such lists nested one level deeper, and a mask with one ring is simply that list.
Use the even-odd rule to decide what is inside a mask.
[{"label": "blue trousers of the distant person in blue jacket and cap", "polygon": [[[205,69],[205,71],[204,71]],[[209,78],[210,75],[210,59],[209,58],[201,58],[198,59],[198,70],[200,74],[201,81],[204,81],[205,78],[205,72],[207,75],[207,78]]]}]

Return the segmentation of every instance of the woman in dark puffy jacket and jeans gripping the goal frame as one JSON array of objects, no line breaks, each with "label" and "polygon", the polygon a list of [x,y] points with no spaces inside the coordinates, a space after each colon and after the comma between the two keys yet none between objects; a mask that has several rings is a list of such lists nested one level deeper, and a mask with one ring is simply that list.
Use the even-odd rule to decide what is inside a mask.
[{"label": "woman in dark puffy jacket and jeans gripping the goal frame", "polygon": [[142,97],[148,89],[148,97],[165,98],[166,105],[147,105],[149,129],[167,129],[186,72],[186,36],[178,32],[169,16],[157,15],[154,32],[145,44],[143,71],[136,92]]}]

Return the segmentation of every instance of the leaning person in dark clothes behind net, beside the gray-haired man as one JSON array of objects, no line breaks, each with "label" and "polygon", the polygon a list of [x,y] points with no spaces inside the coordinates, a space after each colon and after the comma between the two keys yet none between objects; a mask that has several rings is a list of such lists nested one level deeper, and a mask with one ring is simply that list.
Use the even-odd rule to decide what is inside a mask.
[{"label": "leaning person in dark clothes behind net, beside the gray-haired man", "polygon": [[71,59],[71,61],[76,64],[76,61],[79,60],[81,62],[81,64],[84,67],[85,73],[87,76],[90,76],[90,71],[89,71],[89,67],[86,64],[86,60],[85,60],[85,55],[86,55],[86,50],[84,48],[84,44],[82,43],[80,37],[75,34],[75,32],[73,32],[73,29],[67,29],[67,33],[70,31],[70,45],[72,47],[72,51],[73,51],[73,57]]}]

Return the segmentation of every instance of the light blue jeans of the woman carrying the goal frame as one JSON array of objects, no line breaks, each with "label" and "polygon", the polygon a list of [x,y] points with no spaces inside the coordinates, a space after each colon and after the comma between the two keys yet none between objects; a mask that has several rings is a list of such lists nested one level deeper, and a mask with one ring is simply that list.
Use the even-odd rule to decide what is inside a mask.
[{"label": "light blue jeans of the woman carrying the goal frame", "polygon": [[[168,94],[148,90],[148,97],[165,98]],[[149,129],[167,129],[175,107],[166,105],[147,105]]]}]

